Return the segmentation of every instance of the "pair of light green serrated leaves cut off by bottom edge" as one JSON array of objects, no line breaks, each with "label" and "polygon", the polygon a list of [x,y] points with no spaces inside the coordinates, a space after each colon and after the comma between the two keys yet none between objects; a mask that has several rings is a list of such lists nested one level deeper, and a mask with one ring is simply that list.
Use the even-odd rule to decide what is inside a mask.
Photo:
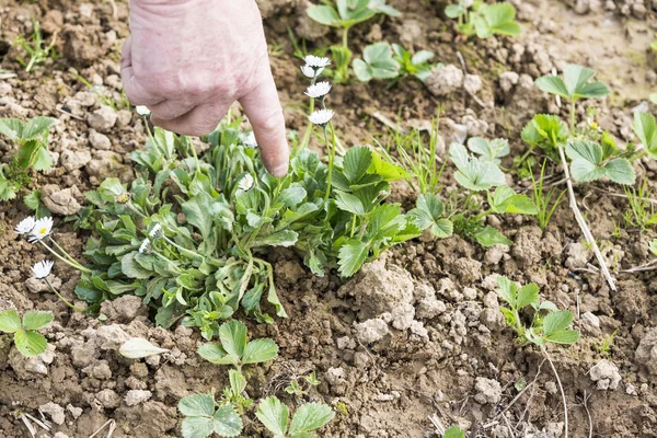
[{"label": "pair of light green serrated leaves cut off by bottom edge", "polygon": [[313,431],[331,422],[335,412],[324,403],[306,403],[297,408],[290,422],[289,407],[272,395],[258,404],[255,416],[274,438],[312,438]]}]

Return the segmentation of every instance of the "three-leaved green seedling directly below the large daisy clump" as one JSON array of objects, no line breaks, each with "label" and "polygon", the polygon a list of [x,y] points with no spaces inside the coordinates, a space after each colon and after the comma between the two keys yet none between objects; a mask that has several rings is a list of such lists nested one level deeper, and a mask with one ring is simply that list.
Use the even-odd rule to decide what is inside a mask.
[{"label": "three-leaved green seedling directly below the large daisy clump", "polygon": [[204,344],[198,354],[216,365],[232,365],[238,371],[245,365],[261,364],[278,356],[278,346],[272,339],[246,342],[246,325],[228,321],[219,327],[221,344]]}]

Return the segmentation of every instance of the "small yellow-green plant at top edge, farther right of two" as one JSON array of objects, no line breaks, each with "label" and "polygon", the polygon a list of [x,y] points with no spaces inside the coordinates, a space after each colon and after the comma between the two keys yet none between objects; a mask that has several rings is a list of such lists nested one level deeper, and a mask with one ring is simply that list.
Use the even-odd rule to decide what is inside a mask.
[{"label": "small yellow-green plant at top edge, farther right of two", "polygon": [[445,14],[459,20],[457,28],[465,36],[517,36],[522,32],[516,22],[516,8],[507,2],[487,4],[483,0],[460,0],[445,8]]}]

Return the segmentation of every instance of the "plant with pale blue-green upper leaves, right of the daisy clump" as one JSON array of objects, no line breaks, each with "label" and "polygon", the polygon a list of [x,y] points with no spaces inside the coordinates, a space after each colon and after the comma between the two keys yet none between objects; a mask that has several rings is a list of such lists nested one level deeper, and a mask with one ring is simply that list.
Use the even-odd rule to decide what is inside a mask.
[{"label": "plant with pale blue-green upper leaves, right of the daisy clump", "polygon": [[[484,247],[511,244],[511,241],[495,228],[483,226],[482,219],[485,216],[507,212],[535,216],[539,212],[535,204],[527,195],[517,194],[506,185],[499,161],[508,153],[509,146],[504,139],[488,141],[473,137],[468,141],[468,148],[460,143],[452,143],[449,148],[449,157],[457,166],[454,178],[469,192],[463,201],[464,212],[453,219],[454,227],[463,235],[476,239]],[[472,194],[479,192],[486,193],[488,209],[476,216],[468,216]]]}]

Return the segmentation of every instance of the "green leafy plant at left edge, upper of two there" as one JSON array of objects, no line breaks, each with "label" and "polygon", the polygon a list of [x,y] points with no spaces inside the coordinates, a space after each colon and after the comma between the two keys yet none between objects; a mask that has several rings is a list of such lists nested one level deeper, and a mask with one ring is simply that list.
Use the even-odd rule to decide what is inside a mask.
[{"label": "green leafy plant at left edge, upper of two there", "polygon": [[32,181],[30,170],[44,171],[53,166],[48,153],[50,117],[36,117],[26,124],[18,118],[0,118],[0,134],[19,145],[9,163],[0,164],[0,200],[10,200]]}]

